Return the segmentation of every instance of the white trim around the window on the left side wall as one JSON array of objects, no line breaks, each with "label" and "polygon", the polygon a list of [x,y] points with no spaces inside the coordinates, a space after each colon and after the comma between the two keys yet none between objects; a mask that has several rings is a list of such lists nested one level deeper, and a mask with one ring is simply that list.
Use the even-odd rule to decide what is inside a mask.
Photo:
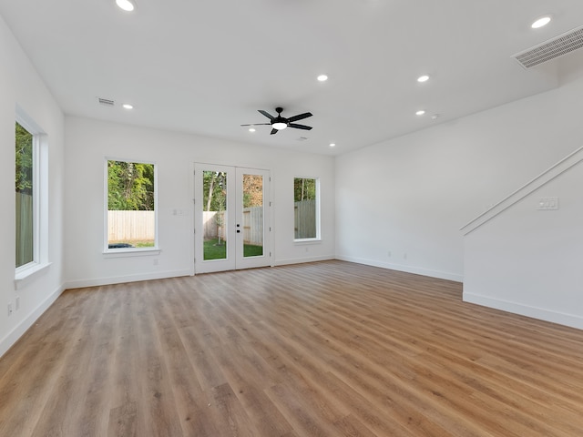
[{"label": "white trim around the window on the left side wall", "polygon": [[50,266],[48,261],[48,140],[44,129],[16,105],[15,122],[33,136],[33,260],[15,267],[15,286]]}]

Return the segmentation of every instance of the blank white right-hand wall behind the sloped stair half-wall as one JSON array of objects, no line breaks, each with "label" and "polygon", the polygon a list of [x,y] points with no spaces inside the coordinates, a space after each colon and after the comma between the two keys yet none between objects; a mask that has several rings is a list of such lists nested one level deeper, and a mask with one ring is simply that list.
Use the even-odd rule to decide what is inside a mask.
[{"label": "blank white right-hand wall behind the sloped stair half-wall", "polygon": [[581,146],[581,96],[574,76],[337,158],[337,258],[461,281],[459,229]]}]

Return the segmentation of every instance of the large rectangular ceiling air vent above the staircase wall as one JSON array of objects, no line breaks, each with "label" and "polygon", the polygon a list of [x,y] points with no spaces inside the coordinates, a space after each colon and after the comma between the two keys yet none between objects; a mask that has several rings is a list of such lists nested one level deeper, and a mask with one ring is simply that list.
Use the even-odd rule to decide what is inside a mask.
[{"label": "large rectangular ceiling air vent above the staircase wall", "polygon": [[521,66],[530,68],[558,56],[567,55],[581,47],[583,47],[583,26],[518,53],[514,58]]}]

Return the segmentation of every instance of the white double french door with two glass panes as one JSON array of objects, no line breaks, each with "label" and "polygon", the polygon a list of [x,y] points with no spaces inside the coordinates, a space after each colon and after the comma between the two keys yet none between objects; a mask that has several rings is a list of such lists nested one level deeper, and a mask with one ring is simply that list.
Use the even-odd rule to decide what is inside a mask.
[{"label": "white double french door with two glass panes", "polygon": [[271,265],[269,170],[195,164],[195,272]]}]

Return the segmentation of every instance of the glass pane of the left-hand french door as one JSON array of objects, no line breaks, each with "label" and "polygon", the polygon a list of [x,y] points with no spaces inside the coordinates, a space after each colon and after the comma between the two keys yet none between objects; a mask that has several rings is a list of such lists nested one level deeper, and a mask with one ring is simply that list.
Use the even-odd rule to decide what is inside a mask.
[{"label": "glass pane of the left-hand french door", "polygon": [[227,259],[227,172],[202,173],[203,259]]}]

